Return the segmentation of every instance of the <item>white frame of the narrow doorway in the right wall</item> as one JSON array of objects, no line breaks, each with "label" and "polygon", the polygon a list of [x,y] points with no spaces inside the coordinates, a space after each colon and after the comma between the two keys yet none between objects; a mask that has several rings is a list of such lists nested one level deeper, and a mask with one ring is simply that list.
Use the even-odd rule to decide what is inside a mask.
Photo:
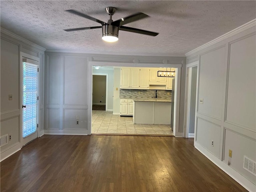
[{"label": "white frame of the narrow doorway in the right wall", "polygon": [[[186,65],[186,85],[185,85],[185,106],[184,106],[184,133],[183,137],[194,137],[189,135],[189,120],[190,120],[190,93],[191,93],[191,78],[192,78],[192,67],[197,66],[197,77],[196,77],[196,108],[197,111],[197,92],[198,92],[198,74],[199,74],[199,61],[192,62]],[[195,111],[195,127],[196,127],[196,111]],[[196,130],[196,128],[195,128]]]}]

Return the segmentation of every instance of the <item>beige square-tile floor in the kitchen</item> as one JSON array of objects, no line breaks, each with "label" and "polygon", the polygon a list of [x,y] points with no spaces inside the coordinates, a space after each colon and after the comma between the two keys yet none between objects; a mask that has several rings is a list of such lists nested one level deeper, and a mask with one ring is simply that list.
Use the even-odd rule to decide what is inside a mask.
[{"label": "beige square-tile floor in the kitchen", "polygon": [[132,117],[112,111],[92,110],[92,134],[142,134],[173,136],[170,125],[133,124]]}]

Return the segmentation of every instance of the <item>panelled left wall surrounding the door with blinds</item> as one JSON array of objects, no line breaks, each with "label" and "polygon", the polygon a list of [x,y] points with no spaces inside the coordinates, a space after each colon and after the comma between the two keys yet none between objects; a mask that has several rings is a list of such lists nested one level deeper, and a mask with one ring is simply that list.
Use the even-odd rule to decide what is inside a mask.
[{"label": "panelled left wall surrounding the door with blinds", "polygon": [[[12,135],[12,139],[7,145],[0,148],[1,161],[22,146],[20,144],[21,135],[21,103],[20,103],[20,70],[21,52],[40,58],[39,63],[39,117],[38,134],[44,134],[44,48],[33,44],[15,34],[1,28],[1,107],[0,124],[1,136]],[[8,95],[12,94],[12,100],[8,100]]]}]

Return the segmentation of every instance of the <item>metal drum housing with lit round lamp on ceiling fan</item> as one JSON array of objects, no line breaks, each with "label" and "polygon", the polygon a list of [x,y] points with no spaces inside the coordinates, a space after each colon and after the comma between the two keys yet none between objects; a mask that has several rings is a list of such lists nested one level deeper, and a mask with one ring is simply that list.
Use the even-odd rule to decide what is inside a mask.
[{"label": "metal drum housing with lit round lamp on ceiling fan", "polygon": [[113,25],[102,26],[102,39],[106,42],[118,41],[118,27]]}]

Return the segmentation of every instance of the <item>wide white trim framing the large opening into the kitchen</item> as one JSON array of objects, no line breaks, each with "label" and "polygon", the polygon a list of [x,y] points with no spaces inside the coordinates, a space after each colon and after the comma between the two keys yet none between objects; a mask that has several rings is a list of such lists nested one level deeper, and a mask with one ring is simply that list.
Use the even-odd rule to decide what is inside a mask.
[{"label": "wide white trim framing the large opening into the kitchen", "polygon": [[144,63],[121,63],[121,62],[88,62],[88,135],[92,134],[92,67],[93,66],[113,66],[113,67],[154,67],[154,68],[176,68],[176,81],[175,81],[175,98],[174,103],[174,136],[182,137],[182,133],[179,132],[180,121],[180,84],[181,84],[181,70],[182,64],[144,64]]}]

